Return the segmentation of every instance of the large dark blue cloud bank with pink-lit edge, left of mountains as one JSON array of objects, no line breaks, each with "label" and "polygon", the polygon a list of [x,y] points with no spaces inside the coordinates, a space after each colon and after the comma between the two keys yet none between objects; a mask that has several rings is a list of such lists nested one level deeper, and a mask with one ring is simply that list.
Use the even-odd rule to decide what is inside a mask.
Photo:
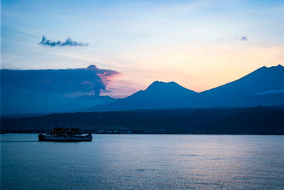
[{"label": "large dark blue cloud bank with pink-lit edge, left of mountains", "polygon": [[81,95],[107,92],[108,81],[118,75],[115,70],[97,68],[59,70],[0,70],[1,99],[6,112],[37,110],[62,105]]}]

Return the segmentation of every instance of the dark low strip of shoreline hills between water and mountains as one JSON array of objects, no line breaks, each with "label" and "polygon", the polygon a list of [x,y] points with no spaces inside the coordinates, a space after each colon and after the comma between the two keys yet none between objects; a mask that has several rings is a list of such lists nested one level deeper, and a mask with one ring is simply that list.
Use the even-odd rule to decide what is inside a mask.
[{"label": "dark low strip of shoreline hills between water and mountains", "polygon": [[[84,131],[116,130],[173,134],[284,134],[284,107],[194,108],[77,112],[1,120],[4,132],[50,131],[78,126]],[[77,125],[76,125],[77,123]]]}]

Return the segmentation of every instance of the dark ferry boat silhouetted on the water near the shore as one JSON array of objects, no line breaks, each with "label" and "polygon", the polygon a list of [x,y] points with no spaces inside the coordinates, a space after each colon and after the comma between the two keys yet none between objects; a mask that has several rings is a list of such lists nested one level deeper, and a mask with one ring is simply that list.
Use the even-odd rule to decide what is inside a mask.
[{"label": "dark ferry boat silhouetted on the water near the shore", "polygon": [[38,134],[39,141],[54,142],[82,142],[92,141],[92,134],[84,135],[79,128],[72,127],[53,127],[53,131],[46,134]]}]

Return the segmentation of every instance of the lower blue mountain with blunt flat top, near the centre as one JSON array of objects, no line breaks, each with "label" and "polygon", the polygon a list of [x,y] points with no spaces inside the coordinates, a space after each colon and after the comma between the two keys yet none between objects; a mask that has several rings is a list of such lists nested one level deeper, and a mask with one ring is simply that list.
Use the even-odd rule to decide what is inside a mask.
[{"label": "lower blue mountain with blunt flat top, near the centre", "polygon": [[[97,107],[89,107],[86,110],[163,109],[172,105],[175,100],[195,94],[197,94],[195,91],[188,90],[175,82],[164,83],[155,81],[146,90],[140,90],[116,102]],[[172,105],[172,107],[174,106]]]}]

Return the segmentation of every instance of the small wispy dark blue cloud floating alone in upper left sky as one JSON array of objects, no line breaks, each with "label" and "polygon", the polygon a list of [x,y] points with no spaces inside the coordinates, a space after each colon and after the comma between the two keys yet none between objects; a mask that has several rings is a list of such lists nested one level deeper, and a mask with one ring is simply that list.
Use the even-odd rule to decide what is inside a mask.
[{"label": "small wispy dark blue cloud floating alone in upper left sky", "polygon": [[43,45],[43,46],[51,46],[51,47],[55,47],[55,46],[89,46],[88,43],[72,41],[71,38],[67,38],[65,41],[50,41],[45,36],[43,36],[40,43],[38,43],[38,44]]}]

